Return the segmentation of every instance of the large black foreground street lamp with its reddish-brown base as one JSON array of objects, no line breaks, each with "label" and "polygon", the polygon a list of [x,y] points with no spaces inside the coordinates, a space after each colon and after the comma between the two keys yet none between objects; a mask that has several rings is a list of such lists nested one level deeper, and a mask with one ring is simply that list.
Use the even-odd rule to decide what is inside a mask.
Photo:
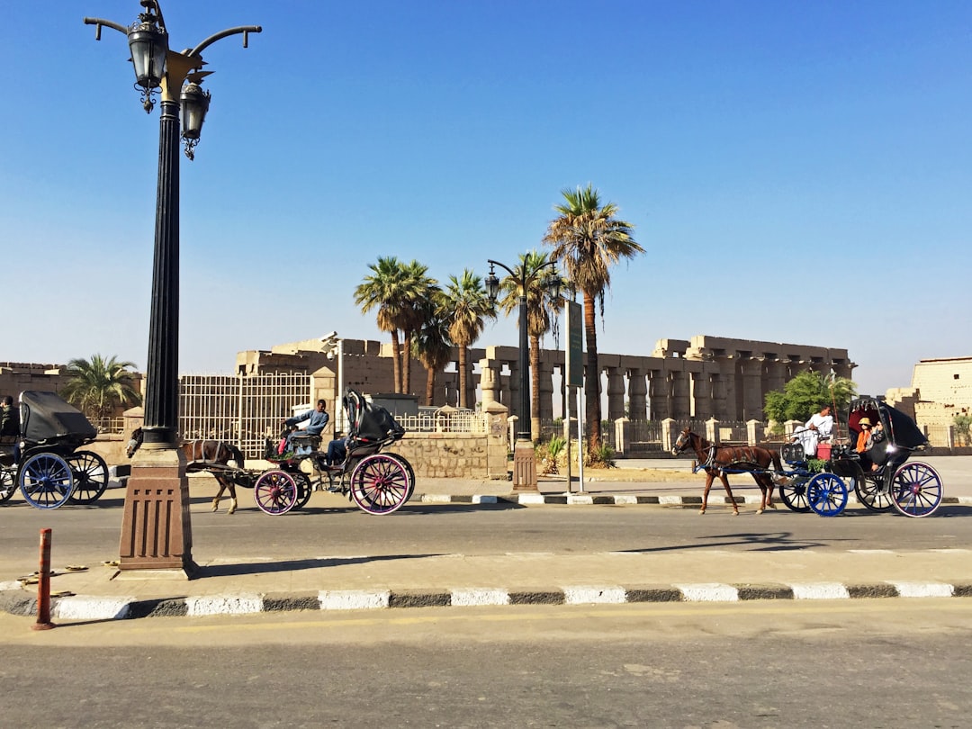
[{"label": "large black foreground street lamp with its reddish-brown base", "polygon": [[243,47],[259,25],[229,28],[184,52],[169,49],[169,34],[157,0],[140,0],[143,12],[125,27],[112,20],[86,17],[95,26],[113,28],[128,39],[135,84],[146,113],[160,94],[158,186],[156,189],[155,257],[152,271],[152,312],[146,366],[145,439],[132,463],[121,526],[121,571],[182,570],[191,572],[192,534],[186,458],[179,448],[179,136],[186,156],[195,145],[209,109],[210,94],[200,86],[211,72],[203,71],[200,53],[229,35],[243,34]]}]

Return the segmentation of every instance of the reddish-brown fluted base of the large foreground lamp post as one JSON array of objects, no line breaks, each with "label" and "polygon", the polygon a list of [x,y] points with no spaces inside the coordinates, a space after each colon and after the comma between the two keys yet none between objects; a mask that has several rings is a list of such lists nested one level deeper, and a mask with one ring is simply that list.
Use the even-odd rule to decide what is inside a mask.
[{"label": "reddish-brown fluted base of the large foreground lamp post", "polygon": [[139,450],[125,487],[119,570],[194,573],[189,508],[182,449]]}]

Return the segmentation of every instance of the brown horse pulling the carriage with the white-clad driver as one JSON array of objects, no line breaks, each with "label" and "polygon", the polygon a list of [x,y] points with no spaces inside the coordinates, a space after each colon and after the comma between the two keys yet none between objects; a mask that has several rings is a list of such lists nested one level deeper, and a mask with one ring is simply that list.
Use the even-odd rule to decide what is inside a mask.
[{"label": "brown horse pulling the carriage with the white-clad driver", "polygon": [[774,469],[780,473],[782,472],[780,454],[777,451],[760,448],[756,445],[715,445],[701,435],[696,435],[686,428],[678,434],[678,439],[675,441],[675,447],[672,449],[672,453],[677,455],[688,448],[695,451],[695,457],[699,461],[699,468],[706,471],[706,490],[702,495],[700,514],[706,513],[706,504],[709,503],[709,489],[712,488],[712,481],[718,476],[719,480],[722,481],[722,485],[725,486],[726,494],[729,495],[733,515],[739,516],[739,506],[736,505],[736,499],[732,495],[732,489],[729,488],[729,478],[726,476],[727,470],[729,472],[745,471],[755,479],[756,485],[759,486],[759,490],[763,494],[759,508],[756,509],[757,514],[763,513],[767,507],[776,508],[776,505],[773,503],[774,480],[770,475],[769,468],[772,464]]}]

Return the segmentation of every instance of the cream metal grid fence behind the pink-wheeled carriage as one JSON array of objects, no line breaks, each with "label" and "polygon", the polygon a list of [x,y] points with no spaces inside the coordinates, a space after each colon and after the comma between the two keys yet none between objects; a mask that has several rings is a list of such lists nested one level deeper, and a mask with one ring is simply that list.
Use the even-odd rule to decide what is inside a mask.
[{"label": "cream metal grid fence behind the pink-wheeled carriage", "polygon": [[183,375],[179,431],[187,440],[226,440],[247,458],[260,458],[266,438],[280,434],[293,407],[312,399],[307,374]]}]

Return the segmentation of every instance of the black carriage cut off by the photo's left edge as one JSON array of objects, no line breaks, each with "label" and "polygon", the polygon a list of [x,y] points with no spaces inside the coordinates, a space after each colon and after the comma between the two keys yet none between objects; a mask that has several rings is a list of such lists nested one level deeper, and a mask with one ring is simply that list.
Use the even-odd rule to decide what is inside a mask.
[{"label": "black carriage cut off by the photo's left edge", "polygon": [[108,466],[78,450],[98,434],[85,414],[54,393],[31,390],[20,393],[19,408],[20,434],[0,443],[0,502],[17,487],[37,508],[96,501],[108,487]]}]

